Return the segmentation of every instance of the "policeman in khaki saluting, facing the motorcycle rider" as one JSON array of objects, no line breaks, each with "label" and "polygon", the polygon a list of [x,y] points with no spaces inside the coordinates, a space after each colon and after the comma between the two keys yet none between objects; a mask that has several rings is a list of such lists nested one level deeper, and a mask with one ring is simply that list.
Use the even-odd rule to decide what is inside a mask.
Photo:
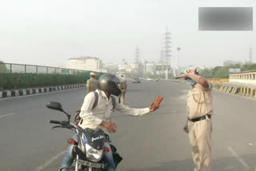
[{"label": "policeman in khaki saluting, facing the motorcycle rider", "polygon": [[187,94],[188,120],[184,131],[189,133],[194,171],[211,171],[212,84],[199,76],[195,67],[187,69],[178,78],[184,78],[190,85]]}]

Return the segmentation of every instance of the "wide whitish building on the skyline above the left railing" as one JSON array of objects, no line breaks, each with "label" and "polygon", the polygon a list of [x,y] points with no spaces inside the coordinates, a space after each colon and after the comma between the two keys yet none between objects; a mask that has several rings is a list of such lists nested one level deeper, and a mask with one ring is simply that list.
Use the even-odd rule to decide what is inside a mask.
[{"label": "wide whitish building on the skyline above the left railing", "polygon": [[102,70],[102,60],[95,57],[69,58],[66,62],[66,68],[73,70]]}]

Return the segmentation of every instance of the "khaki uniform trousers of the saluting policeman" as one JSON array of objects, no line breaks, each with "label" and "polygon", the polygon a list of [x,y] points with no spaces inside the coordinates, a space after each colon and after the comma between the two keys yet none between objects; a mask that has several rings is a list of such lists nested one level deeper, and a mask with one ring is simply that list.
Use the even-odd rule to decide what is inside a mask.
[{"label": "khaki uniform trousers of the saluting policeman", "polygon": [[188,129],[194,171],[211,171],[212,121],[209,118],[196,122],[189,121]]}]

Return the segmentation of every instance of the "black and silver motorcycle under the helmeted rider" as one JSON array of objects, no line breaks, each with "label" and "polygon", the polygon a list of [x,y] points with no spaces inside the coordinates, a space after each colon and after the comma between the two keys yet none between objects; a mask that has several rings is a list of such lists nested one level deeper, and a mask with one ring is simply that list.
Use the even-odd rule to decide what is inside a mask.
[{"label": "black and silver motorcycle under the helmeted rider", "polygon": [[104,147],[104,142],[108,136],[102,131],[95,131],[93,129],[82,129],[77,125],[70,123],[70,114],[66,113],[62,109],[62,105],[58,102],[50,101],[46,104],[49,109],[55,109],[66,114],[67,121],[54,121],[50,120],[50,123],[57,124],[52,129],[65,128],[73,130],[78,140],[70,138],[68,143],[74,145],[72,149],[72,156],[74,157],[74,166],[71,166],[69,170],[74,171],[106,171],[106,162],[102,160],[103,154],[110,152],[110,148],[114,155],[114,160],[120,162],[122,157],[118,156],[114,145],[110,145],[110,148]]}]

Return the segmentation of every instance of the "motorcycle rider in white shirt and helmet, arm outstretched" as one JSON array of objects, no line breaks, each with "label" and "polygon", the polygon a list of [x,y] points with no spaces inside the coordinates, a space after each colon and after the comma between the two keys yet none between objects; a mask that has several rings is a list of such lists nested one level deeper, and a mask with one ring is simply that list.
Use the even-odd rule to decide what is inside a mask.
[{"label": "motorcycle rider in white shirt and helmet, arm outstretched", "polygon": [[[114,105],[112,101],[114,98],[112,98],[111,95],[119,96],[121,94],[118,84],[120,84],[120,80],[114,74],[103,74],[98,79],[98,89],[96,90],[96,93],[98,93],[98,105],[93,108],[95,95],[94,92],[88,93],[84,99],[81,112],[79,114],[81,121],[79,121],[78,125],[82,129],[102,129],[106,134],[115,133],[117,125],[110,121],[111,113],[114,110],[117,110],[120,113],[126,113],[128,115],[142,116],[158,109],[158,106],[154,104],[150,105],[148,108],[142,109],[133,109],[126,105],[122,105],[121,103],[115,103]],[[73,138],[77,139],[76,135]],[[106,141],[104,145],[110,148],[109,141]],[[59,169],[60,171],[68,170],[68,168],[72,165],[74,161],[74,158],[71,155],[72,148],[73,145],[69,145],[66,155],[62,161],[62,165]],[[110,150],[110,152],[105,153],[103,158],[107,163],[107,170],[114,171],[116,169],[116,165],[114,164],[112,151]]]}]

